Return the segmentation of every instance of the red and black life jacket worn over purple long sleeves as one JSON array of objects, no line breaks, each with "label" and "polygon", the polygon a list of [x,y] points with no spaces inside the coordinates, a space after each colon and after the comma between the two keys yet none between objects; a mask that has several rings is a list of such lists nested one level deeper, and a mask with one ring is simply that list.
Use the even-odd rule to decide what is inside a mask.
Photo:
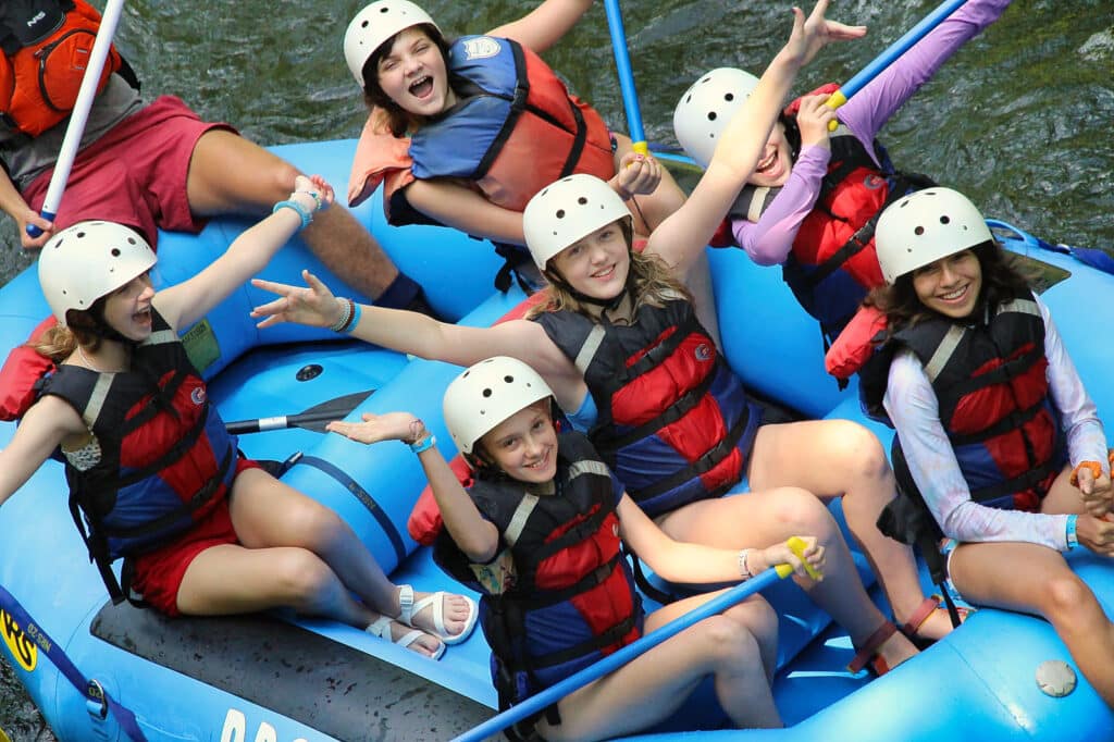
[{"label": "red and black life jacket worn over purple long sleeves", "polygon": [[[876,162],[846,126],[830,141],[831,159],[815,206],[801,223],[782,269],[797,301],[820,322],[825,343],[840,334],[870,290],[883,283],[874,254],[874,226],[882,211],[907,193],[932,185],[922,175],[898,172],[878,141]],[[758,222],[780,191],[745,186],[731,217]]]}]

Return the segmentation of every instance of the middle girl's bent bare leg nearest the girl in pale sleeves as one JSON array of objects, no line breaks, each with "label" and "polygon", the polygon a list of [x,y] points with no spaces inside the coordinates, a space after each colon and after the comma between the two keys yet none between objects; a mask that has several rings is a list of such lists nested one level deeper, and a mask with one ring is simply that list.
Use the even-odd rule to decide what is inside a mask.
[{"label": "middle girl's bent bare leg nearest the girl in pale sleeves", "polygon": [[[803,487],[819,497],[843,497],[851,535],[867,560],[898,623],[925,599],[912,549],[878,530],[878,516],[893,499],[896,485],[878,438],[850,420],[810,420],[759,428],[751,455],[750,484],[755,489]],[[925,637],[951,631],[942,611],[921,625]]]}]

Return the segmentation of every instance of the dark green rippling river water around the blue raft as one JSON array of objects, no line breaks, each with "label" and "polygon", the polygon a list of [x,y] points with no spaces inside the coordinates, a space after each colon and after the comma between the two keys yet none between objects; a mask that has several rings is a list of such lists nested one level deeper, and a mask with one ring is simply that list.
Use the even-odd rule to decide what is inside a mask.
[{"label": "dark green rippling river water around the blue raft", "polygon": [[[94,0],[102,7],[102,0]],[[261,144],[354,137],[362,104],[341,39],[362,0],[131,0],[117,41],[150,95],[172,92]],[[517,18],[530,0],[436,0],[450,37]],[[866,39],[829,48],[799,88],[848,79],[935,7],[934,0],[834,0],[829,16],[866,23]],[[675,145],[672,111],[712,67],[758,72],[788,37],[790,3],[655,0],[625,3],[646,134]],[[592,8],[546,59],[625,130],[604,9]],[[890,120],[881,139],[903,169],[956,187],[988,215],[1051,242],[1114,247],[1114,16],[1108,0],[1015,0]],[[334,184],[343,192],[344,184]],[[0,221],[0,281],[30,264]],[[1107,299],[1108,301],[1108,299]],[[0,652],[0,656],[7,655]],[[8,667],[0,729],[52,740]]]}]

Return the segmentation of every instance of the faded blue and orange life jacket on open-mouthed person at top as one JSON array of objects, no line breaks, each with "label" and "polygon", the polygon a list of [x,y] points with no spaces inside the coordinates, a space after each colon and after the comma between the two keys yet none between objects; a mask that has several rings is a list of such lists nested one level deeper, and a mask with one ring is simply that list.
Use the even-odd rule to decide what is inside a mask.
[{"label": "faded blue and orange life jacket on open-mouthed person at top", "polygon": [[[544,187],[574,173],[615,174],[610,134],[594,108],[569,94],[534,51],[511,39],[463,37],[449,49],[459,102],[410,139],[369,118],[349,180],[354,206],[383,183],[394,225],[429,222],[405,202],[414,178],[461,178],[491,203],[521,212]],[[393,141],[392,141],[393,140]]]}]

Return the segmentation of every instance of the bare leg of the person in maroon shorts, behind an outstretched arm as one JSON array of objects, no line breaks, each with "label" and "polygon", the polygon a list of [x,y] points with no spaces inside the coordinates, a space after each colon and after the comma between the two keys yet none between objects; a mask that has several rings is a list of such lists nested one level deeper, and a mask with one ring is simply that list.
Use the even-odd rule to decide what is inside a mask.
[{"label": "bare leg of the person in maroon shorts, behind an outstretched arm", "polygon": [[[198,216],[263,216],[294,188],[297,168],[224,129],[205,133],[194,147],[187,194]],[[339,204],[320,212],[302,234],[310,250],[353,289],[374,300],[399,276],[391,258]]]}]

